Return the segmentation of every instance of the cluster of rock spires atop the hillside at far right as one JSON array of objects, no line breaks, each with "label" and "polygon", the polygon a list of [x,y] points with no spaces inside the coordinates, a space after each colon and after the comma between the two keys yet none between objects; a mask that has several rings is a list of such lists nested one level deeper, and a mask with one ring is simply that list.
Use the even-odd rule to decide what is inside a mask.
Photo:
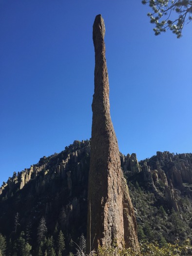
[{"label": "cluster of rock spires atop the hillside at far right", "polygon": [[168,151],[156,152],[156,156],[139,162],[142,166],[145,186],[167,208],[180,214],[179,194],[192,197],[192,154],[172,154]]}]

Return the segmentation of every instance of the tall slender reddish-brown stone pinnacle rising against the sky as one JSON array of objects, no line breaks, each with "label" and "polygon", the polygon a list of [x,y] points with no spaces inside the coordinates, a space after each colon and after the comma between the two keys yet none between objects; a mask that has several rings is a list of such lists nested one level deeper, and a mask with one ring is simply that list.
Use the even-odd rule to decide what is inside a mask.
[{"label": "tall slender reddish-brown stone pinnacle rising against the sky", "polygon": [[93,25],[95,91],[92,110],[91,160],[88,187],[86,250],[98,246],[139,251],[134,208],[120,166],[118,143],[110,116],[109,79],[105,59],[105,24],[97,15]]}]

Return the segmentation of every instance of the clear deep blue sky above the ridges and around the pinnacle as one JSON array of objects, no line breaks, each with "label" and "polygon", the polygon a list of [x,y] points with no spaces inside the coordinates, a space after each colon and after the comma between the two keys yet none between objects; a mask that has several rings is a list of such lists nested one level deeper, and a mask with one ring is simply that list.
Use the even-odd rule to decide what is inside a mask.
[{"label": "clear deep blue sky above the ridges and around the pinnacle", "polygon": [[155,37],[140,0],[0,0],[0,183],[91,137],[92,26],[105,21],[120,151],[192,152],[192,24]]}]

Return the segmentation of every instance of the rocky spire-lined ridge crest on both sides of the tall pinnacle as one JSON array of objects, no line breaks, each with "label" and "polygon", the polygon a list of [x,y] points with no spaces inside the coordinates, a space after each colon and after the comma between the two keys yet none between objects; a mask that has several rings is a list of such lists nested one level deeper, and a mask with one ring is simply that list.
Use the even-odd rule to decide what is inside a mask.
[{"label": "rocky spire-lined ridge crest on both sides of the tall pinnacle", "polygon": [[[76,179],[84,181],[85,173],[82,171],[85,166],[89,172],[90,162],[90,141],[77,141],[66,147],[59,154],[39,159],[37,164],[31,165],[24,171],[13,173],[0,187],[0,200],[6,200],[16,195],[28,183],[36,181],[35,193],[42,190],[42,184],[50,182],[58,177],[65,179],[68,190],[72,195],[74,172],[71,171],[71,163],[77,171]],[[82,156],[87,160],[82,161]],[[62,159],[63,158],[63,159]],[[85,159],[83,158],[83,160]],[[78,161],[79,159],[80,162]],[[127,156],[120,153],[121,169],[128,179],[137,177],[141,179],[143,187],[153,192],[159,200],[169,202],[170,209],[179,212],[177,197],[181,193],[192,197],[192,154],[173,154],[168,151],[157,152],[152,158],[146,158],[138,162],[136,154]],[[88,179],[88,174],[86,174]],[[87,182],[87,180],[85,181]],[[85,184],[87,186],[87,184]],[[161,187],[161,190],[159,190]],[[87,193],[87,191],[86,191]]]}]

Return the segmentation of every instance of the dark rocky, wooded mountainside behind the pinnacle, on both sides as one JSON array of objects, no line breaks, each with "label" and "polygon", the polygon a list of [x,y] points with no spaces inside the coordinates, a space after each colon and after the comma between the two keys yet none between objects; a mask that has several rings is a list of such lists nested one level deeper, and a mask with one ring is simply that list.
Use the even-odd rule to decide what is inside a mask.
[{"label": "dark rocky, wooded mountainside behind the pinnacle, on both sides", "polygon": [[[192,154],[157,152],[140,162],[135,154],[120,154],[120,161],[124,176],[131,182],[139,238],[153,241],[163,236],[169,242],[191,238]],[[0,189],[0,233],[6,235],[7,241],[12,240],[7,244],[12,253],[14,241],[21,231],[28,234],[30,227],[31,253],[38,255],[38,225],[44,216],[47,238],[53,236],[57,243],[57,234],[62,230],[66,245],[63,255],[76,254],[77,246],[72,240],[78,244],[82,233],[87,236],[89,168],[90,141],[74,141],[61,153],[40,158],[38,164],[14,173],[4,183]],[[17,213],[19,226],[15,233]],[[150,236],[149,231],[154,233]],[[45,245],[42,251],[45,252]]]}]

